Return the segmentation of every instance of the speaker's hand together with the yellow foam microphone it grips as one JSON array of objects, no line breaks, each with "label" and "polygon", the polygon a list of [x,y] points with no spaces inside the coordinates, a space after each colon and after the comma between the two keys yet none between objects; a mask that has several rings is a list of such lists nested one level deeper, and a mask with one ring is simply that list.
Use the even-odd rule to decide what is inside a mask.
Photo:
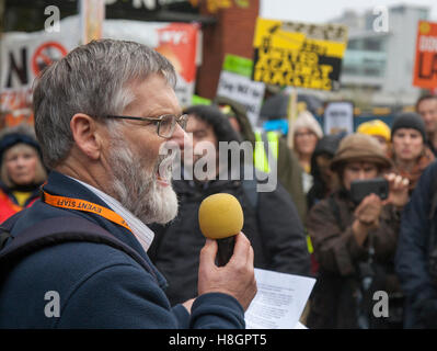
[{"label": "speaker's hand together with the yellow foam microphone it grips", "polygon": [[241,231],[240,203],[225,193],[206,197],[199,208],[199,225],[207,239],[200,251],[198,294],[229,294],[246,310],[256,294],[256,281],[253,248]]}]

